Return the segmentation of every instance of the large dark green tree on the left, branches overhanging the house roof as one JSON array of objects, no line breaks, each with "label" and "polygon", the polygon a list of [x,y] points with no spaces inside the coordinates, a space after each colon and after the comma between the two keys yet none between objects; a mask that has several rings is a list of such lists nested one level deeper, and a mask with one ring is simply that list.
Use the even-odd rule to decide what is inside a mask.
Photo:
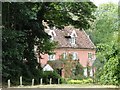
[{"label": "large dark green tree on the left, branches overhanging the house roof", "polygon": [[39,53],[54,49],[43,21],[50,27],[74,25],[87,29],[95,18],[92,12],[96,8],[92,2],[4,2],[2,5],[3,81],[18,80],[20,75],[26,80],[33,77],[39,80],[34,45],[39,45]]}]

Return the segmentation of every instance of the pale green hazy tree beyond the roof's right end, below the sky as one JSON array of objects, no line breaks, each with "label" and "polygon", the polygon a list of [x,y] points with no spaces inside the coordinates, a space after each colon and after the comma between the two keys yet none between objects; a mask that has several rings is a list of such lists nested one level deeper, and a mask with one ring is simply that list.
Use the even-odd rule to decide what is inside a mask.
[{"label": "pale green hazy tree beyond the roof's right end, below the sky", "polygon": [[94,13],[95,22],[91,23],[91,28],[87,31],[95,45],[109,43],[118,32],[118,5],[108,3],[102,4]]}]

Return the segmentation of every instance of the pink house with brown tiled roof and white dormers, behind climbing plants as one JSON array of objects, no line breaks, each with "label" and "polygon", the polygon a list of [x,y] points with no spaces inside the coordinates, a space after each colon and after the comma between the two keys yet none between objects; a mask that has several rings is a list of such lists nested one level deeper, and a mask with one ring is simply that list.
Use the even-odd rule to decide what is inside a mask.
[{"label": "pink house with brown tiled roof and white dormers, behind climbing plants", "polygon": [[[55,54],[45,54],[39,63],[45,66],[48,61],[59,60],[60,56],[66,58],[68,54],[72,55],[72,60],[78,60],[83,67],[86,67],[88,62],[91,66],[95,60],[95,45],[90,40],[84,30],[75,29],[72,26],[66,26],[62,30],[46,29],[46,32],[51,35],[51,41],[57,41],[58,46],[54,50]],[[64,70],[62,72],[64,77]],[[87,70],[84,69],[84,75],[87,76]],[[92,70],[90,75],[92,76]]]}]

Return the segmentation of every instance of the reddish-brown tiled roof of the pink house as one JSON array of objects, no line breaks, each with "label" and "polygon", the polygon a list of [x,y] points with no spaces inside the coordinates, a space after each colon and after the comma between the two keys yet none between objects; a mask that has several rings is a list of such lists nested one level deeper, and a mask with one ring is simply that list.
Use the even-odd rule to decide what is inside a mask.
[{"label": "reddish-brown tiled roof of the pink house", "polygon": [[[53,38],[54,41],[58,42],[58,48],[95,49],[95,45],[84,30],[76,29],[73,26],[66,26],[62,30],[54,29],[50,30],[50,32],[55,33],[55,35],[53,35]],[[76,39],[75,45],[72,45],[69,42],[68,38],[65,38],[65,36],[72,36],[73,33],[75,34]]]}]

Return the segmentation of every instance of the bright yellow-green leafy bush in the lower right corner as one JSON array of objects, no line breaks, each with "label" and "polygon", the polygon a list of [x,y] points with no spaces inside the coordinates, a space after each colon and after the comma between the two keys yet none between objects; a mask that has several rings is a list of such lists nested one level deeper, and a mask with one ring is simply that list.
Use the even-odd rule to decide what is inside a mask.
[{"label": "bright yellow-green leafy bush in the lower right corner", "polygon": [[120,85],[120,64],[118,57],[112,57],[103,67],[101,84]]}]

